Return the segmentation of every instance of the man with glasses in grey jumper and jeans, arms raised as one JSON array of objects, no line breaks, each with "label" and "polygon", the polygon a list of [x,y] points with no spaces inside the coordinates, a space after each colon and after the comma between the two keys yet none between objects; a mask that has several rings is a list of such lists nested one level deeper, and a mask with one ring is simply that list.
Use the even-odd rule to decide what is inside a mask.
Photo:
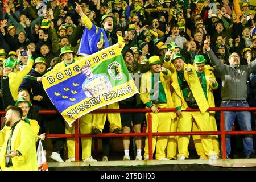
[{"label": "man with glasses in grey jumper and jeans, arms raised", "polygon": [[[249,107],[247,102],[249,75],[256,69],[256,61],[248,65],[240,65],[240,56],[233,52],[229,56],[229,64],[222,64],[210,49],[209,36],[204,42],[210,62],[221,74],[221,107]],[[251,113],[249,111],[225,111],[225,130],[231,131],[236,119],[242,131],[251,131]],[[231,151],[230,135],[226,135],[226,156],[229,158]],[[252,135],[243,137],[243,152],[245,158],[255,158]]]}]

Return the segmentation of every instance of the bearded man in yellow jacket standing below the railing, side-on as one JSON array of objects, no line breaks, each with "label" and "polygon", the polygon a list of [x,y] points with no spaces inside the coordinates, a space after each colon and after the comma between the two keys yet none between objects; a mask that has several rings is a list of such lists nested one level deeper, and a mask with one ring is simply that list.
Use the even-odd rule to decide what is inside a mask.
[{"label": "bearded man in yellow jacket standing below the railing, side-on", "polygon": [[5,115],[6,126],[10,126],[0,153],[3,171],[37,171],[35,137],[31,126],[22,120],[22,109],[9,106]]}]

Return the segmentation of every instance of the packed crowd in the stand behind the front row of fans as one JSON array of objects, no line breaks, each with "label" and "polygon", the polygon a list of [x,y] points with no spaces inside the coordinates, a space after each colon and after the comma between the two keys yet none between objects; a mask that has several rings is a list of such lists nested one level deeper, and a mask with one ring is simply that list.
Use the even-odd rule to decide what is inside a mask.
[{"label": "packed crowd in the stand behind the front row of fans", "polygon": [[[45,73],[62,61],[59,55],[64,46],[71,46],[77,52],[85,24],[75,10],[75,2],[80,4],[86,16],[98,27],[102,27],[102,16],[113,16],[112,34],[123,37],[125,47],[122,53],[132,50],[134,61],[138,64],[146,65],[153,55],[163,57],[172,47],[171,44],[176,43],[176,48],[172,50],[175,52],[175,49],[179,49],[185,57],[185,63],[193,64],[196,55],[204,55],[207,64],[211,65],[204,47],[207,36],[210,36],[210,47],[224,64],[229,64],[228,59],[233,52],[240,55],[242,65],[249,64],[256,58],[256,6],[253,3],[238,3],[236,0],[9,0],[0,1],[0,76],[4,76],[3,65],[8,57],[18,61],[19,71],[26,68],[31,57],[33,60],[43,57],[48,65],[43,71]],[[133,72],[131,69],[129,71]],[[219,73],[214,73],[217,82],[221,83]],[[19,77],[20,83],[23,78],[32,79],[34,76],[26,77],[27,74],[28,72]],[[250,106],[256,106],[255,78],[256,71],[248,80]],[[10,86],[11,90],[11,84],[16,84],[12,82],[5,85],[3,82],[2,79],[0,110],[5,110],[9,103],[6,101],[9,100],[5,93],[6,87]],[[23,87],[27,88],[27,85],[24,84]],[[29,88],[33,90],[28,92],[35,109],[55,109],[42,85],[40,88],[38,85],[31,85]],[[219,86],[214,91],[216,107],[221,103],[220,89]],[[15,97],[13,96],[14,100]],[[219,126],[217,118],[218,115],[216,121]],[[255,130],[254,117],[252,118]],[[40,115],[36,119],[49,121],[48,124],[42,122],[43,130],[47,130],[48,125],[55,125],[56,122],[50,121],[59,120],[59,125],[50,126],[50,133],[58,133],[60,130],[65,133],[60,115]],[[236,122],[234,127],[239,130]],[[63,150],[64,142],[65,140],[57,141],[57,151]],[[239,137],[233,140],[234,146],[239,147],[240,143]]]}]

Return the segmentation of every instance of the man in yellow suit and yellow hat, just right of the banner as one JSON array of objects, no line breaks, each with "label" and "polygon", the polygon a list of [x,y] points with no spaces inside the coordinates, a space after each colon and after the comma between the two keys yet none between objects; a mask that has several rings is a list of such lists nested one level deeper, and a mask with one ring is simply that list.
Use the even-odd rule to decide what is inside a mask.
[{"label": "man in yellow suit and yellow hat, just right of the banner", "polygon": [[[159,113],[159,108],[172,108],[174,102],[171,96],[171,71],[163,67],[159,56],[149,59],[150,71],[141,78],[140,97],[146,108],[152,110],[152,132],[170,132],[174,123],[174,113]],[[147,119],[146,114],[146,119]],[[148,122],[148,121],[147,121]],[[166,147],[168,137],[158,136],[152,138],[152,152],[156,149],[156,160],[167,160]],[[144,160],[149,159],[148,138],[145,140]]]}]

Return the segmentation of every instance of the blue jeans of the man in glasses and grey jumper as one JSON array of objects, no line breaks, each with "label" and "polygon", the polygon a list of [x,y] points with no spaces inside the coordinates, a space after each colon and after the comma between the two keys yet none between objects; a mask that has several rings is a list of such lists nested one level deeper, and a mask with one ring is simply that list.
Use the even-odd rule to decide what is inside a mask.
[{"label": "blue jeans of the man in glasses and grey jumper", "polygon": [[[221,107],[249,107],[247,101],[230,101],[225,100],[221,102]],[[224,111],[225,130],[232,131],[232,125],[237,120],[241,131],[251,131],[251,113],[248,111]],[[243,152],[246,157],[254,154],[253,149],[253,136],[244,135],[243,137]],[[230,135],[226,135],[226,156],[230,155]]]}]

